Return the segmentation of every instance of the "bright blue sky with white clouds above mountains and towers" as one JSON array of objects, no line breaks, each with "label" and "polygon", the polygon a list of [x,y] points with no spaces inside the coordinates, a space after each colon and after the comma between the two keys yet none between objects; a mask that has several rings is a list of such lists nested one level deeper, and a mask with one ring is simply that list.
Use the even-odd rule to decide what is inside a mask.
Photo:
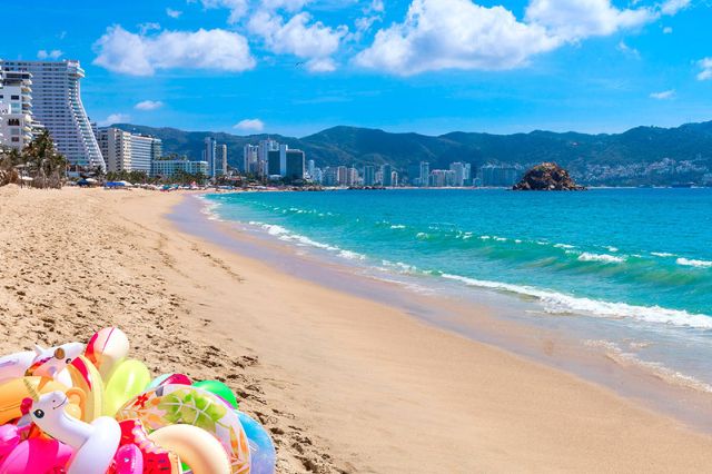
[{"label": "bright blue sky with white clouds above mountains and towers", "polygon": [[710,0],[0,2],[0,58],[80,60],[100,125],[304,137],[712,120]]}]

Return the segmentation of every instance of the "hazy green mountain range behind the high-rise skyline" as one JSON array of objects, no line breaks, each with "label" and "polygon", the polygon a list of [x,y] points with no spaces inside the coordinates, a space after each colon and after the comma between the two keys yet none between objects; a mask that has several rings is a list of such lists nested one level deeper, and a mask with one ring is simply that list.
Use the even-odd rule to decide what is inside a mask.
[{"label": "hazy green mountain range behind the high-rise skyline", "polygon": [[130,124],[115,127],[152,135],[164,141],[165,154],[200,159],[204,139],[214,137],[228,146],[228,162],[239,167],[243,147],[273,138],[299,148],[319,167],[390,164],[405,177],[416,177],[421,161],[431,169],[453,161],[512,165],[522,169],[542,161],[567,168],[589,185],[712,184],[712,121],[676,128],[636,127],[623,134],[532,131],[492,135],[456,131],[432,137],[383,130],[334,127],[304,138],[279,135],[236,136],[224,132],[184,131]]}]

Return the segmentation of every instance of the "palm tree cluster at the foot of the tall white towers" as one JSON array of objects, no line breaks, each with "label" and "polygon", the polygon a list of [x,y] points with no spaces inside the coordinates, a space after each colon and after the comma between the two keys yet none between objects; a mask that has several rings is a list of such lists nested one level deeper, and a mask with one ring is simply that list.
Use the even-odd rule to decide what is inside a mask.
[{"label": "palm tree cluster at the foot of the tall white towers", "polygon": [[0,186],[21,184],[36,188],[61,188],[67,177],[67,159],[55,148],[48,130],[42,130],[22,151],[0,149]]}]

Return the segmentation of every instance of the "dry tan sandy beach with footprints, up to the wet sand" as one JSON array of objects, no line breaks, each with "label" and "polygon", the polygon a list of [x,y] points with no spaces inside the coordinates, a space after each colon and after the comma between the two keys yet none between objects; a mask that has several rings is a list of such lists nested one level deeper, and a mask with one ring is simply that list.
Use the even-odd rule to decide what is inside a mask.
[{"label": "dry tan sandy beach with footprints, up to the wet sand", "polygon": [[181,233],[185,195],[0,188],[0,353],[116,325],[225,381],[283,473],[693,472],[712,437],[603,387]]}]

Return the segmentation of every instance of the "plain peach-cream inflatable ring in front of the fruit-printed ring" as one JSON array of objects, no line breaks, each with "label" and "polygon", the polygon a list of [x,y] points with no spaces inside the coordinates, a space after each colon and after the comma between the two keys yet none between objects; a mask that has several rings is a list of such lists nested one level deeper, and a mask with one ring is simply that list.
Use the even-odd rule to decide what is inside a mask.
[{"label": "plain peach-cream inflatable ring in front of the fruit-printed ring", "polygon": [[230,461],[219,441],[192,425],[169,425],[148,435],[164,450],[176,453],[195,474],[230,474]]}]

